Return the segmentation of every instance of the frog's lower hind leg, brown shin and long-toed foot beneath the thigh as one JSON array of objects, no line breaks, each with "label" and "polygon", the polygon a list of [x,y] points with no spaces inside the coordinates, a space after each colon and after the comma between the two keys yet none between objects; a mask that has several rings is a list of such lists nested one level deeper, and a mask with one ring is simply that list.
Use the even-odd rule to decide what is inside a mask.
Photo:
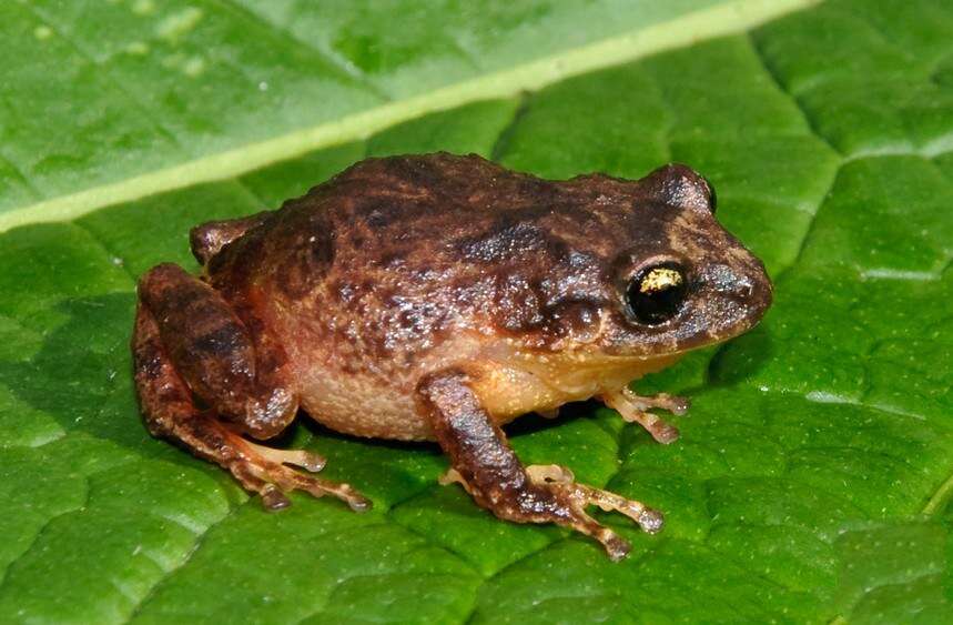
[{"label": "frog's lower hind leg, brown shin and long-toed foot beneath the thigh", "polygon": [[135,313],[132,337],[135,385],[149,431],[176,441],[192,453],[229,470],[242,486],[262,495],[270,508],[288,505],[284,493],[301,490],[314,496],[332,494],[357,511],[371,502],[347,484],[305,475],[284,464],[317,471],[324,460],[302,450],[263,447],[243,438],[234,426],[220,421],[212,411],[202,411],[192,401],[192,391],[179,375],[166,352],[159,323],[142,302]]}]

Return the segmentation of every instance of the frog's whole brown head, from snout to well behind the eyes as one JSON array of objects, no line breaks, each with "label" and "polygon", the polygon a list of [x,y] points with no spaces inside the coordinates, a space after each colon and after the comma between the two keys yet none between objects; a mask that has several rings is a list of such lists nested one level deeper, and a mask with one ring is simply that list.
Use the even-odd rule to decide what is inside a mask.
[{"label": "frog's whole brown head, from snout to well behind the eyes", "polygon": [[552,303],[543,316],[559,336],[548,351],[594,365],[675,355],[741,334],[770,305],[764,265],[718,223],[714,190],[691,169],[561,184],[574,199],[543,224],[558,243],[545,249],[564,250],[540,261]]}]

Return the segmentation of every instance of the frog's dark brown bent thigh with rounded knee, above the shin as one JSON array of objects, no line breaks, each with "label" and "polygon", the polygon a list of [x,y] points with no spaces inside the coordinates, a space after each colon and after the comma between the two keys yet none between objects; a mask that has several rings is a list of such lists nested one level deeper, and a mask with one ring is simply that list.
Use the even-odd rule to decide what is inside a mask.
[{"label": "frog's dark brown bent thigh with rounded knee, above the shin", "polygon": [[255,438],[291,423],[297,397],[272,364],[281,359],[258,353],[264,347],[256,347],[214,289],[178,265],[161,264],[142,276],[139,298],[175,371],[203,402]]}]

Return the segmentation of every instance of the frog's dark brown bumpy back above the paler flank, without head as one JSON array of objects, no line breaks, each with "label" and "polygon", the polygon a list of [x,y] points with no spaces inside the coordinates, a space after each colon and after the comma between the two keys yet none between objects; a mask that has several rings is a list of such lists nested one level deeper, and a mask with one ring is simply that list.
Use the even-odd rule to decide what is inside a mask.
[{"label": "frog's dark brown bumpy back above the paler flank, without head", "polygon": [[433,342],[452,325],[525,331],[540,311],[508,298],[527,285],[571,282],[577,301],[601,302],[601,268],[632,240],[619,229],[630,215],[607,195],[631,192],[606,177],[552,182],[477,155],[368,159],[286,202],[209,271],[222,290],[254,283],[286,309],[357,316],[382,347],[419,352],[415,339]]}]

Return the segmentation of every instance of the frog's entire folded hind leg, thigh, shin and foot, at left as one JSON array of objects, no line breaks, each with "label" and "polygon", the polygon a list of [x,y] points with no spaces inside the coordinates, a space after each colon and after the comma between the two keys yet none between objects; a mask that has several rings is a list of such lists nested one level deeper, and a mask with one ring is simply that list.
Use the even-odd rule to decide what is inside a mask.
[{"label": "frog's entire folded hind leg, thigh, shin and foot, at left", "polygon": [[[268,438],[294,419],[295,393],[282,380],[274,354],[255,345],[229,303],[181,268],[163,264],[139,284],[132,337],[135,384],[150,432],[229,470],[266,507],[288,505],[285,493],[335,495],[354,510],[369,501],[347,484],[285,466],[320,471],[324,458],[301,450],[274,450],[242,434]],[[199,397],[209,407],[195,405]]]}]

